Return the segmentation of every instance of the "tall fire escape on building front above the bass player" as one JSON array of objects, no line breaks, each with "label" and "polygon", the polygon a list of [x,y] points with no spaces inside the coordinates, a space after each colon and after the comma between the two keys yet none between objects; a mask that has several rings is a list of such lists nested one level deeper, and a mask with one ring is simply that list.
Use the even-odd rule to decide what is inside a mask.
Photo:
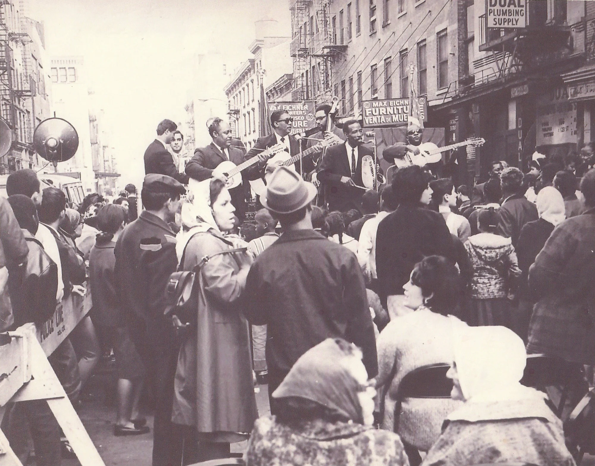
[{"label": "tall fire escape on building front above the bass player", "polygon": [[346,45],[343,32],[330,24],[330,0],[293,0],[293,100],[324,99],[331,95],[332,60]]}]

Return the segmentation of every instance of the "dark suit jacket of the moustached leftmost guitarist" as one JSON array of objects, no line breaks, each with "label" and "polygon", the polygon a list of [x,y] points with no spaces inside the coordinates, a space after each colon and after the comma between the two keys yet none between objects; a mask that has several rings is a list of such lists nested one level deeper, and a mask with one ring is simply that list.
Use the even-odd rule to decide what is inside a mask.
[{"label": "dark suit jacket of the moustached leftmost guitarist", "polygon": [[[228,152],[229,159],[236,165],[240,165],[244,161],[242,149],[229,147]],[[200,147],[194,151],[194,156],[187,163],[186,174],[198,181],[208,180],[208,178],[212,177],[213,170],[224,160],[227,160],[226,156],[215,146],[215,143],[211,143],[206,147]],[[229,191],[231,203],[236,207],[236,215],[240,220],[244,219],[246,213],[247,180],[246,175],[242,173],[242,185]]]}]

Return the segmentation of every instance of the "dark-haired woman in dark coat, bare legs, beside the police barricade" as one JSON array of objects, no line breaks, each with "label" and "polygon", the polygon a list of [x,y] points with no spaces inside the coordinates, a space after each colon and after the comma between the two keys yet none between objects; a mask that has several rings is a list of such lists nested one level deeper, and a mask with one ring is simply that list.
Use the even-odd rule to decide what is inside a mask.
[{"label": "dark-haired woman in dark coat, bare legs, beside the police barricade", "polygon": [[139,399],[145,368],[130,340],[115,283],[115,243],[124,231],[126,211],[114,204],[99,209],[97,226],[101,232],[89,253],[89,282],[93,296],[93,323],[104,348],[113,348],[118,376],[118,414],[114,435],[139,435],[149,432],[145,418],[139,417]]}]

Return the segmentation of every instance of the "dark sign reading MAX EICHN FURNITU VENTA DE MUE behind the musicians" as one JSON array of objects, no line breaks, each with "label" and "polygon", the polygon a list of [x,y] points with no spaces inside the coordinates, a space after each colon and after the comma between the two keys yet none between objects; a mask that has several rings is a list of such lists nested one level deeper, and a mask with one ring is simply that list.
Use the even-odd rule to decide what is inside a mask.
[{"label": "dark sign reading MAX EICHN FURNITU VENTA DE MUE behind the musicians", "polygon": [[[421,118],[427,121],[427,99],[418,97]],[[407,126],[409,99],[364,100],[364,127],[395,128]]]}]

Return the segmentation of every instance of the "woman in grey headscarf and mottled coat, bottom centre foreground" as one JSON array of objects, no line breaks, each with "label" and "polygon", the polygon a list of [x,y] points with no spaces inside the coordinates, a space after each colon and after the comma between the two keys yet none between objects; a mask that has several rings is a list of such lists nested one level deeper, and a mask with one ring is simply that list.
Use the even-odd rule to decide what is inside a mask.
[{"label": "woman in grey headscarf and mottled coat, bottom centre foreground", "polygon": [[408,464],[399,436],[372,427],[375,390],[361,357],[340,338],[306,351],[273,393],[279,414],[256,421],[246,465]]}]

